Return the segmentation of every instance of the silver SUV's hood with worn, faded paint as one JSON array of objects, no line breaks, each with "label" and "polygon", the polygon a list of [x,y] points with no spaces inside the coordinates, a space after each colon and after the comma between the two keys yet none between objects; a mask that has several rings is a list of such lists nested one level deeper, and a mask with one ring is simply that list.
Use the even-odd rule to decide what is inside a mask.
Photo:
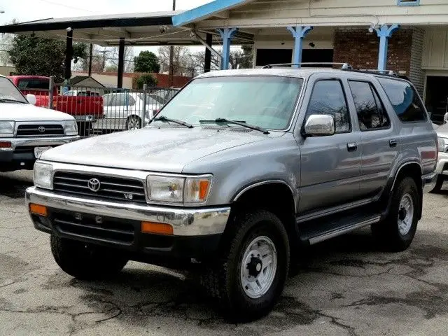
[{"label": "silver SUV's hood with worn, faded paint", "polygon": [[283,133],[265,135],[257,131],[223,130],[221,127],[218,130],[203,127],[145,127],[59,146],[43,153],[41,160],[181,173],[189,162],[207,155],[281,135]]}]

